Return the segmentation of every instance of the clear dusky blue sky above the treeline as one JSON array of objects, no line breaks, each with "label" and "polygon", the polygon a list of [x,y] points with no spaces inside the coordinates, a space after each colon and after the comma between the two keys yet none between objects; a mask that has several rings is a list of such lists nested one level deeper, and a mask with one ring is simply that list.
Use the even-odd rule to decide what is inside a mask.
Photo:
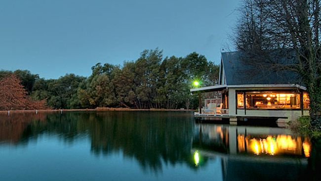
[{"label": "clear dusky blue sky above the treeline", "polygon": [[98,62],[122,65],[144,49],[194,51],[220,63],[233,49],[239,0],[0,0],[0,70],[45,79],[89,76]]}]

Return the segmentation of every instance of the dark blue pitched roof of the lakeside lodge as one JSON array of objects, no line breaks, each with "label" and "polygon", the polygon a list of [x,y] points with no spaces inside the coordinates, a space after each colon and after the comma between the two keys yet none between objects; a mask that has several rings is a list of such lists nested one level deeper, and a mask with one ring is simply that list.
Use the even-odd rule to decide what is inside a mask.
[{"label": "dark blue pitched roof of the lakeside lodge", "polygon": [[[227,85],[245,85],[245,84],[301,84],[300,76],[290,70],[281,70],[270,67],[268,61],[288,65],[296,61],[293,51],[284,53],[281,51],[272,51],[273,60],[266,60],[264,66],[260,65],[259,59],[247,58],[241,51],[223,52],[222,63],[226,76]],[[255,62],[257,61],[257,62]],[[263,60],[264,61],[264,60]]]}]

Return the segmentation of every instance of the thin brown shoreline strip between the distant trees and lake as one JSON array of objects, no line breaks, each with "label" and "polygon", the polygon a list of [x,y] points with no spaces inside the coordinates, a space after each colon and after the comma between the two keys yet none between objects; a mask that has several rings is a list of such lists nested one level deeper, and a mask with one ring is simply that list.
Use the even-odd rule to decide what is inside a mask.
[{"label": "thin brown shoreline strip between the distant trees and lake", "polygon": [[[193,109],[130,109],[130,108],[110,108],[97,107],[96,109],[42,109],[42,110],[10,110],[10,113],[34,113],[34,112],[61,112],[61,111],[195,111]],[[0,114],[8,114],[9,111],[0,111]]]}]

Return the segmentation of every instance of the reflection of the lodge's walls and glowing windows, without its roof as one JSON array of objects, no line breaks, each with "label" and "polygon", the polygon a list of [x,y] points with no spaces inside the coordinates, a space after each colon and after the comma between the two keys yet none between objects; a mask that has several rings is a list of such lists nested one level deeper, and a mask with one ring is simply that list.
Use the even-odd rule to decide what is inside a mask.
[{"label": "reflection of the lodge's walls and glowing windows, without its roof", "polygon": [[309,157],[311,152],[309,137],[281,128],[200,124],[194,132],[194,147],[221,153]]}]

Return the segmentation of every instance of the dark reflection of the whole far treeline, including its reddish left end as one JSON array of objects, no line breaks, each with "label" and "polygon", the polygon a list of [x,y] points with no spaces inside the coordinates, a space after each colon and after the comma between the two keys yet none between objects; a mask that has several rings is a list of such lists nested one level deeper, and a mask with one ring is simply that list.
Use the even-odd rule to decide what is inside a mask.
[{"label": "dark reflection of the whole far treeline, including its reddish left end", "polygon": [[187,162],[193,166],[194,120],[185,113],[27,113],[12,114],[7,117],[9,120],[2,118],[5,120],[0,121],[0,141],[21,143],[46,133],[72,142],[78,136],[87,135],[94,154],[121,151],[124,156],[137,159],[144,169],[161,170],[162,162],[172,165]]}]

